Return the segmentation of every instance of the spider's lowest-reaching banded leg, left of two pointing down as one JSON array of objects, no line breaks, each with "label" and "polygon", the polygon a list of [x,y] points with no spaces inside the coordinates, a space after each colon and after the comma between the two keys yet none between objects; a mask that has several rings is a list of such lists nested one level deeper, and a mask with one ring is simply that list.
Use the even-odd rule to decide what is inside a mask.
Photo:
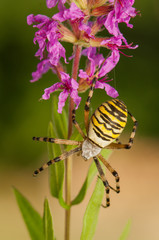
[{"label": "spider's lowest-reaching banded leg, left of two pointing down", "polygon": [[109,186],[108,181],[106,180],[105,174],[103,172],[103,169],[102,169],[98,159],[96,157],[93,157],[93,159],[94,159],[94,162],[95,162],[96,167],[98,169],[99,175],[100,175],[101,180],[102,180],[102,182],[104,184],[104,187],[105,187],[105,191],[106,191],[106,205],[105,206],[102,205],[102,206],[106,208],[106,207],[110,206],[110,198],[109,198],[110,186]]}]

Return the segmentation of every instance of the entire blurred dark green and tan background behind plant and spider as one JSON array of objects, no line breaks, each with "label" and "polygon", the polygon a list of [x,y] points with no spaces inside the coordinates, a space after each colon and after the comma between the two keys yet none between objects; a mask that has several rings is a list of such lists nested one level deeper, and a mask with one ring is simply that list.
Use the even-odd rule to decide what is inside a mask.
[{"label": "entire blurred dark green and tan background behind plant and spider", "polygon": [[[135,7],[141,16],[132,19],[133,29],[124,25],[121,31],[128,42],[138,44],[136,50],[124,50],[120,62],[110,77],[122,99],[139,121],[134,147],[130,151],[114,151],[110,161],[121,176],[121,194],[111,192],[111,208],[101,209],[95,239],[116,240],[128,219],[132,219],[130,240],[158,240],[159,222],[159,1],[136,0]],[[33,44],[35,29],[26,23],[27,15],[51,16],[45,0],[1,1],[0,7],[0,239],[29,239],[21,215],[11,191],[16,186],[42,214],[44,196],[51,203],[57,239],[63,239],[64,211],[49,194],[48,171],[38,178],[32,172],[47,161],[45,143],[35,143],[32,136],[46,136],[51,120],[52,101],[39,101],[46,87],[52,85],[55,75],[51,72],[35,83],[30,83],[31,73],[38,60],[34,57],[37,46]],[[68,46],[70,47],[70,46]],[[68,55],[71,53],[68,53]],[[67,55],[67,56],[68,56]],[[83,95],[77,120],[83,125]],[[98,100],[98,101],[97,101]],[[107,100],[103,91],[96,90],[92,99],[92,111]],[[67,104],[66,104],[67,107]],[[129,121],[126,131],[132,127]],[[130,126],[131,125],[131,126]],[[74,160],[73,193],[81,187],[90,162]],[[80,170],[80,171],[79,171]],[[110,176],[110,183],[114,184]],[[92,194],[88,191],[85,201],[73,209],[72,239],[78,239],[82,216]],[[107,229],[106,229],[107,225]],[[8,231],[9,229],[9,231]],[[114,231],[114,229],[116,229]],[[60,235],[61,234],[61,235]],[[99,237],[101,236],[101,237]]]}]

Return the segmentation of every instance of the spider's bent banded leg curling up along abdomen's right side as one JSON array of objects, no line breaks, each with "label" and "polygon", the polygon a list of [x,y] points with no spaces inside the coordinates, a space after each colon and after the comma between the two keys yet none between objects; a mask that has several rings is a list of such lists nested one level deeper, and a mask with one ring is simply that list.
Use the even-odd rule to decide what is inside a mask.
[{"label": "spider's bent banded leg curling up along abdomen's right side", "polygon": [[130,138],[129,138],[129,142],[127,144],[111,143],[108,146],[106,146],[105,148],[109,148],[109,149],[122,149],[122,148],[130,149],[131,148],[131,146],[133,144],[133,141],[134,141],[134,137],[135,137],[136,129],[137,129],[137,126],[138,126],[138,122],[130,112],[128,112],[128,114],[130,115],[131,119],[134,122],[134,126],[133,126],[133,129],[132,129]]}]

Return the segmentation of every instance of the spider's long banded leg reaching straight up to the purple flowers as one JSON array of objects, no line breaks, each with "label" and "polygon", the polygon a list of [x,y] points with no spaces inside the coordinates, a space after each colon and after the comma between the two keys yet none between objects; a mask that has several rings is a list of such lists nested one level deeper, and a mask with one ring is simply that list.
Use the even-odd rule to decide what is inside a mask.
[{"label": "spider's long banded leg reaching straight up to the purple flowers", "polygon": [[84,108],[84,121],[85,121],[85,128],[86,128],[87,133],[88,133],[88,123],[89,123],[89,106],[90,106],[91,98],[93,96],[93,90],[94,90],[95,83],[96,83],[96,78],[94,78],[92,81],[92,85],[90,87],[88,98],[87,98],[87,101],[85,103],[85,108]]}]

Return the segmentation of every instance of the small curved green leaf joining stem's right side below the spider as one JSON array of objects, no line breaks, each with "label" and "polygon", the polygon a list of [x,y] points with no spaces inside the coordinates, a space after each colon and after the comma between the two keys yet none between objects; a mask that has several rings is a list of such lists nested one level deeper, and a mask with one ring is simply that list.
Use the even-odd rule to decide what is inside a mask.
[{"label": "small curved green leaf joining stem's right side below the spider", "polygon": [[86,195],[87,189],[90,186],[90,184],[91,184],[94,176],[96,175],[96,173],[97,173],[97,168],[96,168],[95,163],[93,161],[89,170],[88,170],[88,174],[87,174],[87,177],[86,177],[86,179],[83,183],[83,186],[82,186],[80,192],[78,193],[78,195],[72,201],[71,205],[79,204],[80,202],[82,202],[82,200],[84,199],[84,197]]}]

